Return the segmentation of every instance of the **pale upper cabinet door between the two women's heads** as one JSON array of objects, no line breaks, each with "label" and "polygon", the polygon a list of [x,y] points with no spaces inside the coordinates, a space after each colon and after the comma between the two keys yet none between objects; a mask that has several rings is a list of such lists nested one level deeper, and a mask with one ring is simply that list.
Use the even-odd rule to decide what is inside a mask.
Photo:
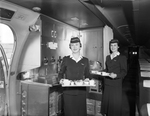
[{"label": "pale upper cabinet door between the two women's heads", "polygon": [[84,55],[92,61],[103,61],[102,57],[102,30],[90,30],[83,32]]}]

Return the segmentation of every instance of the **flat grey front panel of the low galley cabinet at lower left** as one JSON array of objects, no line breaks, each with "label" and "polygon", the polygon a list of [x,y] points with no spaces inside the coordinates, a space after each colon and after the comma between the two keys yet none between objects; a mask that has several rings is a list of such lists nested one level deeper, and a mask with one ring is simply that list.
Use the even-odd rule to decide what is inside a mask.
[{"label": "flat grey front panel of the low galley cabinet at lower left", "polygon": [[49,86],[21,82],[22,116],[48,116]]}]

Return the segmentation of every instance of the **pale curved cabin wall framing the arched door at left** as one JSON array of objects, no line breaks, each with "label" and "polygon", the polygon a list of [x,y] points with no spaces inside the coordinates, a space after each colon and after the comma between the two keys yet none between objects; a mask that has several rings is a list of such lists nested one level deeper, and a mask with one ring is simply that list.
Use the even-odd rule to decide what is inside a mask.
[{"label": "pale curved cabin wall framing the arched door at left", "polygon": [[[17,115],[19,108],[17,102],[18,100],[20,100],[17,99],[20,96],[20,91],[16,81],[19,60],[22,53],[22,49],[24,47],[24,43],[29,34],[29,26],[36,22],[37,18],[39,17],[39,14],[5,1],[0,1],[0,7],[14,12],[12,17],[2,17],[0,19],[0,22],[8,25],[12,29],[14,34],[14,51],[12,54],[12,60],[8,72],[9,77],[7,77],[8,84],[6,87],[6,98],[8,99],[6,100],[6,109],[8,108],[8,112],[11,113],[11,115]],[[9,15],[9,12],[4,12],[3,16]]]}]

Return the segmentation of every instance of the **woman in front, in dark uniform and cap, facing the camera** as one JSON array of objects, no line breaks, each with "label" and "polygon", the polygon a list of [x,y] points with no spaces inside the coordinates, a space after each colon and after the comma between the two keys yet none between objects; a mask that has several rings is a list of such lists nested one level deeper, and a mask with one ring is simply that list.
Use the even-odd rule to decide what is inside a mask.
[{"label": "woman in front, in dark uniform and cap, facing the camera", "polygon": [[[63,58],[58,78],[72,81],[90,79],[89,60],[80,54],[80,39],[71,38],[69,47],[72,54]],[[65,116],[87,116],[86,87],[64,87],[63,98]]]}]

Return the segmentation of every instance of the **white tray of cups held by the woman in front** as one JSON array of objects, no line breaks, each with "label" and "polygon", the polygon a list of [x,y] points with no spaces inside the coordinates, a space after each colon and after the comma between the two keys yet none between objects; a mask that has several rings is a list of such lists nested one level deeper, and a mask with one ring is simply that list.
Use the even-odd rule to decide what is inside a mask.
[{"label": "white tray of cups held by the woman in front", "polygon": [[93,79],[85,79],[85,80],[69,80],[69,79],[61,79],[60,84],[62,87],[90,87],[96,86],[96,82]]}]

